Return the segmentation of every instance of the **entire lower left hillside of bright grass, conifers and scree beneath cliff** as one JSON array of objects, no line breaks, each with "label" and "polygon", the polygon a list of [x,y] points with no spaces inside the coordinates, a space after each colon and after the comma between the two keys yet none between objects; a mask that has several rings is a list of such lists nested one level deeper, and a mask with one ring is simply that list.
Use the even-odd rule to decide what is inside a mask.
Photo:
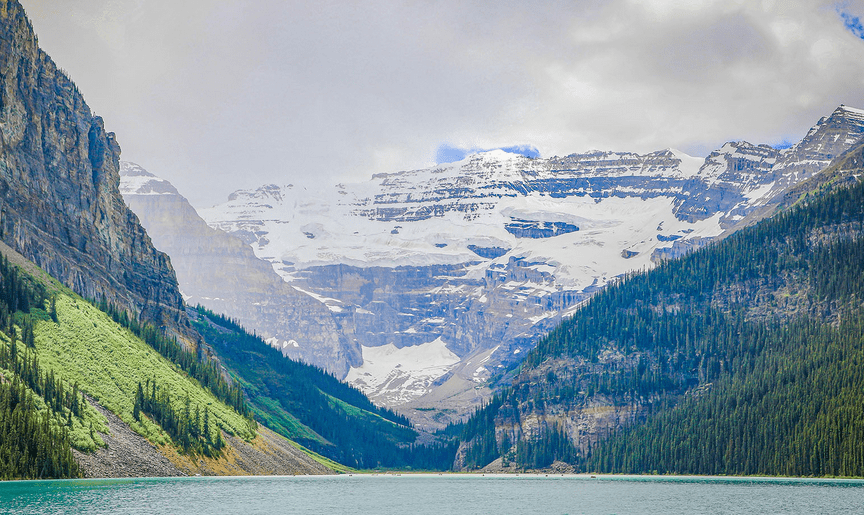
[{"label": "entire lower left hillside of bright grass, conifers and scree beneath cliff", "polygon": [[0,478],[333,472],[258,427],[215,362],[0,254]]}]

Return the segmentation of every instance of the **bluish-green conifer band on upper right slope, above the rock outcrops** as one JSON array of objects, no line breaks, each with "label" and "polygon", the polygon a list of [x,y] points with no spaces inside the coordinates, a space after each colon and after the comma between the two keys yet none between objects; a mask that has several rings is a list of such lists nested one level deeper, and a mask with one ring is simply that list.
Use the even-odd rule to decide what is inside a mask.
[{"label": "bluish-green conifer band on upper right slope, above the rock outcrops", "polygon": [[[715,316],[721,287],[780,286],[790,274],[810,278],[824,298],[857,294],[864,285],[864,184],[838,190],[739,231],[718,245],[649,273],[634,274],[594,296],[584,309],[540,340],[528,366],[561,355],[597,358],[609,343],[624,351],[678,349],[698,339]],[[811,241],[825,236],[825,242]],[[748,299],[733,299],[734,303]],[[686,318],[679,327],[668,324]],[[689,327],[684,327],[687,324]],[[700,326],[702,326],[700,328]]]}]

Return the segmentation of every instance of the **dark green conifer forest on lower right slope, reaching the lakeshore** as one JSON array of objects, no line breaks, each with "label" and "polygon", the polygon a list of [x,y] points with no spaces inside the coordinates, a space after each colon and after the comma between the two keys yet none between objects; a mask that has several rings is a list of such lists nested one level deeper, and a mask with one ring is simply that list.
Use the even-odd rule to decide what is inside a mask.
[{"label": "dark green conifer forest on lower right slope, reaching the lakeshore", "polygon": [[864,319],[763,337],[782,348],[602,442],[586,469],[864,476]]}]

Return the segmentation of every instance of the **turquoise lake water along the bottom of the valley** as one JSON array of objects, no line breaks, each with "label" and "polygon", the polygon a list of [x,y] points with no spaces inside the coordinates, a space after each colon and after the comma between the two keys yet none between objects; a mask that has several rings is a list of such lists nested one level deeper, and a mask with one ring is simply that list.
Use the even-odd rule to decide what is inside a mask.
[{"label": "turquoise lake water along the bottom of the valley", "polygon": [[0,482],[0,513],[864,513],[864,480],[343,475]]}]

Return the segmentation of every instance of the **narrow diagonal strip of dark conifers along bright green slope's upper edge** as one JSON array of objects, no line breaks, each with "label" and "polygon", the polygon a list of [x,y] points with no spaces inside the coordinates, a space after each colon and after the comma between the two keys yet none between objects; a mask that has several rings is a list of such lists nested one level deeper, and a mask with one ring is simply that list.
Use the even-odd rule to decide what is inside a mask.
[{"label": "narrow diagonal strip of dark conifers along bright green slope's upper edge", "polygon": [[104,297],[94,305],[110,315],[115,322],[141,338],[147,345],[153,347],[159,354],[175,363],[189,376],[197,379],[202,386],[209,388],[217,399],[233,407],[237,413],[249,418],[254,424],[252,410],[246,402],[243,390],[236,384],[228,384],[222,376],[222,370],[218,363],[207,359],[200,353],[183,348],[177,343],[176,338],[168,338],[153,325],[130,317],[125,310],[109,304]]}]

